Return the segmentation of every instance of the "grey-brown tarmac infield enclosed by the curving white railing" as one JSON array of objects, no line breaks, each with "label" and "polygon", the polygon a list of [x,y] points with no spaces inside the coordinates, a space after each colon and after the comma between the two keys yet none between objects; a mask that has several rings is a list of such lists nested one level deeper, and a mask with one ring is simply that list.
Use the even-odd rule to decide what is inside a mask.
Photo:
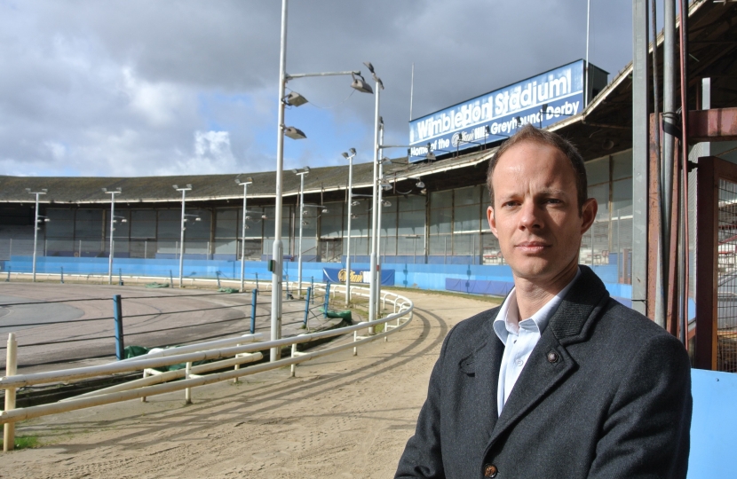
[{"label": "grey-brown tarmac infield enclosed by the curving white railing", "polygon": [[[114,294],[123,298],[126,346],[153,348],[250,333],[250,291],[0,282],[0,369],[11,332],[18,341],[19,373],[115,360]],[[19,302],[25,304],[9,305]],[[320,307],[319,301],[311,305],[308,326],[335,322],[323,319]],[[256,332],[266,338],[270,310],[270,293],[258,294]],[[284,302],[282,335],[303,333],[304,317],[304,300]]]}]

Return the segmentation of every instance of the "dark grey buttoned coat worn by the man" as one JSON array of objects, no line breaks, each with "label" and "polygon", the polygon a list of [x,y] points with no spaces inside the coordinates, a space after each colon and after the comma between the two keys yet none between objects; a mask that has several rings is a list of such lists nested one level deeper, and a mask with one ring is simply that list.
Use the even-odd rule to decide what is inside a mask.
[{"label": "dark grey buttoned coat worn by the man", "polygon": [[450,331],[396,477],[685,477],[692,399],[684,347],[581,270],[501,416],[499,308]]}]

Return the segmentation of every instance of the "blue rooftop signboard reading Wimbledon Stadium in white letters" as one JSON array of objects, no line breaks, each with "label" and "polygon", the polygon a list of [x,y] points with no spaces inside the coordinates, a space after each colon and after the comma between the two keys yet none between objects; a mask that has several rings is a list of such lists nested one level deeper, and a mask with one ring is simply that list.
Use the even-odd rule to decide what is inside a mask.
[{"label": "blue rooftop signboard reading Wimbledon Stadium in white letters", "polygon": [[[583,60],[409,122],[409,161],[506,139],[527,123],[545,127],[583,109]],[[544,110],[544,111],[543,111]]]}]

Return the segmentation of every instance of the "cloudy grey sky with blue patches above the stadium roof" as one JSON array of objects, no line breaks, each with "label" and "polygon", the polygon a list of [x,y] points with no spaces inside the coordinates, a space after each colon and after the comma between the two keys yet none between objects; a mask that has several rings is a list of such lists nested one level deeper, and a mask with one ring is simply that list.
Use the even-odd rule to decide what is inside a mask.
[{"label": "cloudy grey sky with blue patches above the stadium roof", "polygon": [[[590,61],[631,59],[631,0],[591,0]],[[275,168],[281,0],[0,0],[0,175]],[[586,0],[291,0],[287,71],[361,69],[386,87],[385,143],[414,116],[585,56]],[[368,75],[367,75],[368,79]],[[368,161],[374,97],[289,82],[285,167]],[[400,155],[401,152],[396,152]]]}]

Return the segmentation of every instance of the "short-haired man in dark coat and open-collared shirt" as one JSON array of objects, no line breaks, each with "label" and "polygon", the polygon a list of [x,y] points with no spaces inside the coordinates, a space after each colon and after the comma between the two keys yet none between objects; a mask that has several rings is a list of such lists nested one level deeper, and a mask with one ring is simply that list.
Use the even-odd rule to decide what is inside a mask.
[{"label": "short-haired man in dark coat and open-collared shirt", "polygon": [[396,477],[685,477],[689,360],[578,264],[598,208],[581,155],[527,125],[487,183],[514,288],[443,342]]}]

